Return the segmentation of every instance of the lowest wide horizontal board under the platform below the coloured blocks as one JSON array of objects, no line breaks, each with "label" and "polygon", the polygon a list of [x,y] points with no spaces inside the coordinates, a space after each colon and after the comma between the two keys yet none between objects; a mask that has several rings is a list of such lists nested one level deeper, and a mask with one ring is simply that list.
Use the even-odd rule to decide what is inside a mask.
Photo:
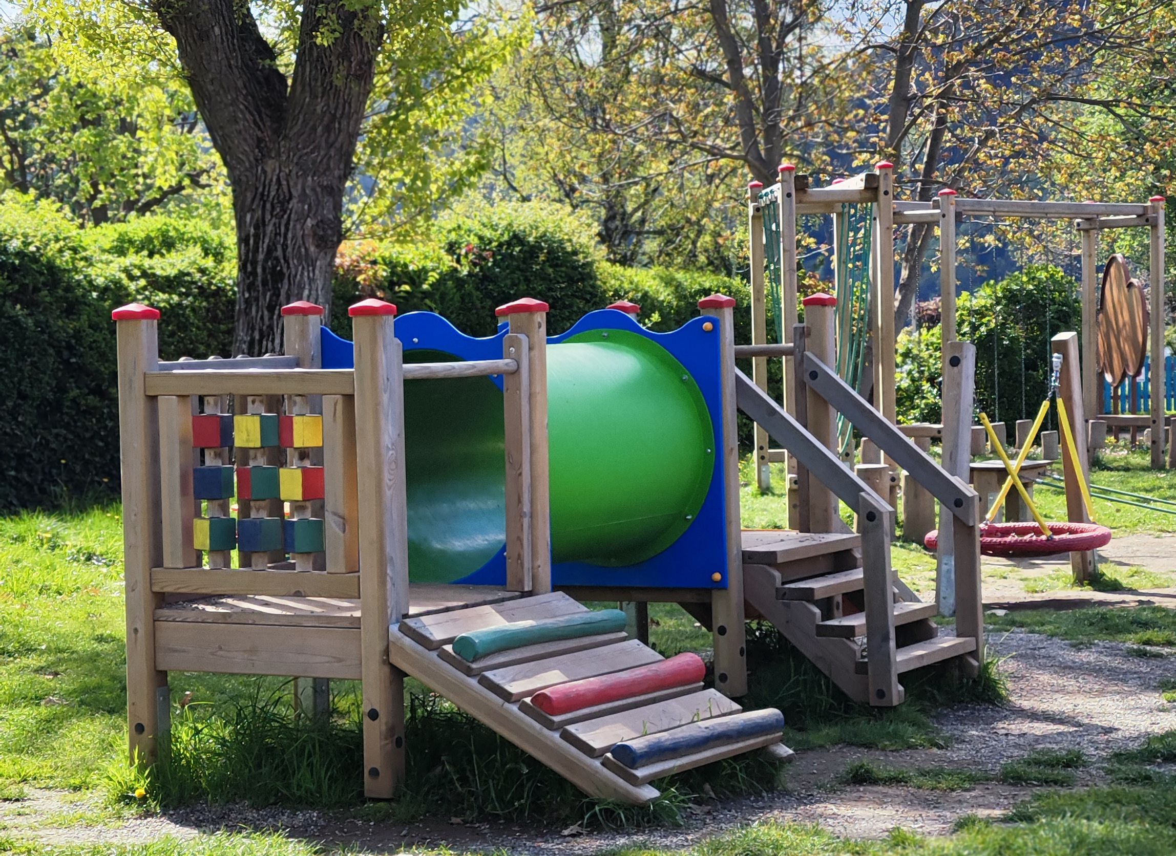
[{"label": "lowest wide horizontal board under the platform below the coloured blocks", "polygon": [[155,656],[169,671],[355,680],[360,630],[160,621]]}]

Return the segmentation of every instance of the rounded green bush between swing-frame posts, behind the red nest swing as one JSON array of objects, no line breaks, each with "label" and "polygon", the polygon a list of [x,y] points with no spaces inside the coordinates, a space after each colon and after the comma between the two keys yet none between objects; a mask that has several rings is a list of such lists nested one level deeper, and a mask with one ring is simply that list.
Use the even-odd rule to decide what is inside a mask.
[{"label": "rounded green bush between swing-frame posts, behind the red nest swing", "polygon": [[1050,339],[1080,329],[1074,279],[1030,265],[960,295],[960,340],[976,346],[976,404],[995,421],[1031,417],[1049,389]]}]

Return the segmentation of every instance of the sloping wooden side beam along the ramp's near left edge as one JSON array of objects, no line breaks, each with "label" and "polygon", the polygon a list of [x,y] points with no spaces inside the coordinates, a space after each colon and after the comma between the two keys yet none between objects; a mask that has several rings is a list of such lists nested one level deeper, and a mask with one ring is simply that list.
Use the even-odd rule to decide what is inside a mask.
[{"label": "sloping wooden side beam along the ramp's near left edge", "polygon": [[441,661],[436,651],[421,648],[403,634],[389,637],[388,657],[429,689],[443,695],[467,714],[494,729],[523,751],[547,764],[589,796],[642,805],[657,798],[649,785],[630,785],[587,757],[559,734],[522,716],[515,704],[503,702],[479,683]]}]

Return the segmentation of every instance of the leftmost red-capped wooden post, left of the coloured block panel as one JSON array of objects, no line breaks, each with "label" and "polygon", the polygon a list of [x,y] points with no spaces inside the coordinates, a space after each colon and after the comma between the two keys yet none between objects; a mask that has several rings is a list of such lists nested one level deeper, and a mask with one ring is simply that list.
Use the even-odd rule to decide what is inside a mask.
[{"label": "leftmost red-capped wooden post, left of the coloured block panel", "polygon": [[[159,480],[159,410],[145,372],[159,368],[159,309],[119,307],[119,448],[122,456],[122,555],[127,602],[127,724],[132,763],[152,764],[167,733],[167,673],[155,668],[155,610],[151,569],[163,559]],[[191,417],[189,417],[191,424]]]}]

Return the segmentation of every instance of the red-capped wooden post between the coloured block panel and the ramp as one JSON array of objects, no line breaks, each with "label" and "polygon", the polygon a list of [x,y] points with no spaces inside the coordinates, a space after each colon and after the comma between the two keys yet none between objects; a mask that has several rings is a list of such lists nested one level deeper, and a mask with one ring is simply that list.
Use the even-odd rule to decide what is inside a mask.
[{"label": "red-capped wooden post between the coloured block panel and the ramp", "polygon": [[405,776],[405,675],[388,663],[388,628],[408,613],[405,375],[393,330],[396,307],[369,299],[348,315],[355,340],[363,793],[387,800]]}]

